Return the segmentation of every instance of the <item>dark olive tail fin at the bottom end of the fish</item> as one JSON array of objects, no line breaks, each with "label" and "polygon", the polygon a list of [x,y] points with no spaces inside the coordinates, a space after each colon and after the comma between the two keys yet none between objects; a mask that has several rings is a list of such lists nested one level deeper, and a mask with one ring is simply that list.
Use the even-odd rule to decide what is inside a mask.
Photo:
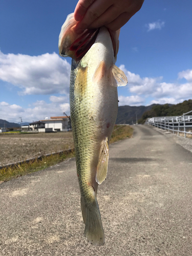
[{"label": "dark olive tail fin at the bottom end of the fish", "polygon": [[81,210],[83,221],[86,224],[86,227],[84,228],[84,236],[86,236],[88,241],[93,245],[103,245],[104,231],[97,199],[95,199],[92,205],[86,206],[81,197]]}]

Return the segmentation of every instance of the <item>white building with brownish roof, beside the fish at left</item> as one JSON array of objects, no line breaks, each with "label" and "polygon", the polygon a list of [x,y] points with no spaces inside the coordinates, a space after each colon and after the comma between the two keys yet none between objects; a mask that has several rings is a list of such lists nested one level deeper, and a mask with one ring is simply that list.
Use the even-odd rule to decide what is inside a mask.
[{"label": "white building with brownish roof, beside the fish at left", "polygon": [[[52,130],[53,132],[69,131],[71,129],[71,120],[67,116],[54,116],[50,119],[40,120],[39,122],[45,123],[45,131],[38,129],[39,132],[47,132]],[[46,131],[47,130],[47,131]]]}]

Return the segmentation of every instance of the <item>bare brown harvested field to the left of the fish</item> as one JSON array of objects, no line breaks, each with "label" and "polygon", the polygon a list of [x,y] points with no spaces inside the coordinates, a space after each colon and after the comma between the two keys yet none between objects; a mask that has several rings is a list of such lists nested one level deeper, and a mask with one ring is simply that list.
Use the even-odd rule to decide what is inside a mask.
[{"label": "bare brown harvested field to the left of the fish", "polygon": [[0,166],[73,147],[72,132],[1,134]]}]

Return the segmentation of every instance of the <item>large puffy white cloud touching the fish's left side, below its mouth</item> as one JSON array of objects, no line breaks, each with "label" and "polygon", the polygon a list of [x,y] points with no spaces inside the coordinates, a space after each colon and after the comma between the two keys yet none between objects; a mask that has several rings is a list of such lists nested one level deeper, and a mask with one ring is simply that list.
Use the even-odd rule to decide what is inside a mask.
[{"label": "large puffy white cloud touching the fish's left side, below its mouth", "polygon": [[0,79],[21,88],[23,95],[68,94],[70,69],[56,53],[29,56],[0,51]]}]

